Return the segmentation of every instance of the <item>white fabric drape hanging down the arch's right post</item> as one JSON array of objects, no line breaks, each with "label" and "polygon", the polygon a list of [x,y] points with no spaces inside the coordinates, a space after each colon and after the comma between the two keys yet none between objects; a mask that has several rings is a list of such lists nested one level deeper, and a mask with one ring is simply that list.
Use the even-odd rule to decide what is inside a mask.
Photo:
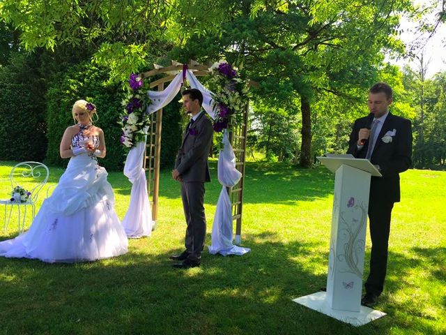
[{"label": "white fabric drape hanging down the arch's right post", "polygon": [[236,156],[234,155],[227,131],[223,134],[224,147],[218,156],[218,181],[223,185],[215,210],[212,227],[212,245],[209,253],[222,255],[244,255],[251,251],[249,248],[234,246],[232,244],[232,205],[226,187],[235,186],[242,174],[236,169]]}]

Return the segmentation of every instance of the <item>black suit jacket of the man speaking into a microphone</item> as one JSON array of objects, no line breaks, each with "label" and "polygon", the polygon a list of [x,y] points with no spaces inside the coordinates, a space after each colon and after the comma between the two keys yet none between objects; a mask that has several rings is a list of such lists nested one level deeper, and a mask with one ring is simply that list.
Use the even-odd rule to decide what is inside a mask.
[{"label": "black suit jacket of the man speaking into a microphone", "polygon": [[[358,133],[360,128],[367,127],[368,117],[362,117],[355,121],[353,131],[348,142],[348,154],[356,158],[365,158],[369,142],[362,149],[357,149]],[[388,131],[394,131],[392,142],[385,143],[383,137]],[[383,128],[376,139],[374,151],[370,161],[379,165],[383,177],[371,177],[370,199],[378,198],[389,202],[399,202],[399,172],[406,171],[412,164],[412,127],[408,119],[397,117],[389,112]]]}]

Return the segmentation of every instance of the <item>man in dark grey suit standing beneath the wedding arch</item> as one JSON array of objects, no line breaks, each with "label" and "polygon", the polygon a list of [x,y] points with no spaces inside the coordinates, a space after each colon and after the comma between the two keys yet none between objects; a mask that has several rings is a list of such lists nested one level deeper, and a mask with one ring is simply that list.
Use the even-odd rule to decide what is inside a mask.
[{"label": "man in dark grey suit standing beneath the wedding arch", "polygon": [[199,267],[201,264],[201,251],[206,237],[204,183],[210,181],[208,156],[213,126],[205,112],[201,111],[201,91],[186,89],[182,95],[184,110],[191,115],[191,120],[183,133],[183,142],[176,156],[172,177],[181,183],[181,199],[187,223],[186,250],[170,258],[181,261],[174,267],[188,268]]}]

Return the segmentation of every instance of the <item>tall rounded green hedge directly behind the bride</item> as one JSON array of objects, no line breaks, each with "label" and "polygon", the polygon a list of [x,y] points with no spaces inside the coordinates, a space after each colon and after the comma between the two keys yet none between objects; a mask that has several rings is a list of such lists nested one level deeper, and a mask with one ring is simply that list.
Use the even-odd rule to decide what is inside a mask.
[{"label": "tall rounded green hedge directly behind the bride", "polygon": [[107,170],[122,170],[125,160],[123,147],[119,142],[121,128],[116,123],[121,111],[123,91],[117,84],[105,84],[107,71],[91,63],[72,66],[56,78],[47,91],[47,158],[52,165],[66,166],[68,159],[59,156],[59,144],[65,129],[74,124],[72,105],[79,99],[96,105],[99,121],[95,126],[105,133],[107,156],[100,159],[100,165]]}]

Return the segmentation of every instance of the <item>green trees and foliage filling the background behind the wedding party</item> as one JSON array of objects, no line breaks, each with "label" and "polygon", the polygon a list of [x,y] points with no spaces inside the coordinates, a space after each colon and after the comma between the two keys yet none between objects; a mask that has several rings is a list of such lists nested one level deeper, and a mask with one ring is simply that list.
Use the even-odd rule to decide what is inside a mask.
[{"label": "green trees and foliage filling the background behind the wedding party", "polygon": [[[170,59],[209,64],[225,58],[259,82],[253,90],[249,152],[302,167],[312,166],[314,157],[326,151],[344,152],[353,120],[367,114],[367,89],[386,81],[395,91],[391,111],[413,121],[415,167],[445,168],[445,74],[429,79],[425,66],[401,70],[384,57],[415,54],[413,46],[399,40],[401,15],[420,22],[420,31],[433,33],[445,21],[445,6],[444,0],[426,8],[408,0],[3,0],[0,73],[6,89],[0,91],[0,110],[6,116],[11,106],[20,107],[18,118],[46,133],[49,147],[45,139],[35,141],[33,132],[20,131],[25,124],[17,120],[13,136],[19,140],[2,142],[0,158],[14,158],[17,148],[33,142],[24,158],[43,159],[47,152],[49,162],[60,164],[56,134],[45,126],[50,121],[45,112],[51,122],[69,124],[69,117],[55,117],[58,103],[68,108],[77,94],[94,98],[103,113],[98,125],[107,128],[115,122],[119,87],[130,72],[151,69],[153,63],[167,66]],[[426,13],[438,14],[434,24],[426,23]],[[82,71],[90,66],[102,72],[89,86]],[[72,78],[85,87],[63,82]],[[43,107],[45,97],[52,101]],[[171,108],[176,107],[164,113],[165,166],[179,143],[177,121],[183,120]],[[10,138],[12,127],[3,120],[0,138]],[[59,126],[50,127],[60,131]],[[113,149],[118,134],[110,133],[111,127],[106,135]],[[105,160],[109,169],[122,167],[124,157],[116,148]]]}]

